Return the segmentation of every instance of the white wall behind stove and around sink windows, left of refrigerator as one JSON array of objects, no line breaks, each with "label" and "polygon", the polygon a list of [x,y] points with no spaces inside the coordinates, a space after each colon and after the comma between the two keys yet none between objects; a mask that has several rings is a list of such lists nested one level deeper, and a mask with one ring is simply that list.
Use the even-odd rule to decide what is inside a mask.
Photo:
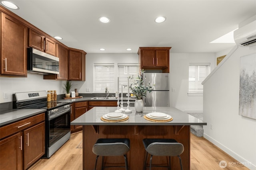
[{"label": "white wall behind stove and around sink windows, left of refrigerator", "polygon": [[[138,63],[138,54],[86,54],[86,81],[72,81],[74,88],[79,93],[93,92],[93,63]],[[117,75],[116,89],[117,89]],[[57,94],[64,94],[61,80],[44,80],[43,75],[28,73],[26,78],[0,77],[0,103],[12,102],[14,92],[30,92],[38,90],[56,90]],[[89,88],[89,92],[86,92]],[[3,99],[3,93],[7,93],[8,99]]]}]

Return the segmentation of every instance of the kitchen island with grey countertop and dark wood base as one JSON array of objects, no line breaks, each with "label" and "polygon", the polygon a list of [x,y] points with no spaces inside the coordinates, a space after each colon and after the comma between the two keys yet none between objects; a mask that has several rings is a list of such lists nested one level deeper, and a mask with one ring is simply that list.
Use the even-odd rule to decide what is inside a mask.
[{"label": "kitchen island with grey countertop and dark wood base", "polygon": [[[132,113],[126,113],[129,117],[122,122],[105,122],[102,115],[114,112],[116,107],[94,107],[71,122],[71,125],[83,125],[83,169],[93,170],[96,155],[92,147],[99,138],[128,138],[130,139],[130,151],[127,154],[130,170],[142,170],[144,165],[145,150],[142,143],[144,138],[172,138],[184,145],[184,152],[180,155],[184,170],[190,169],[190,125],[206,125],[205,122],[184,113],[174,107],[144,107],[142,113],[130,107]],[[162,112],[171,115],[173,120],[169,122],[153,122],[144,119],[144,115],[151,112]],[[101,162],[102,157],[98,162]],[[152,164],[163,164],[167,157],[154,156]],[[107,156],[104,159],[106,166],[124,163],[123,156],[113,159]],[[172,169],[180,169],[178,157],[172,157]],[[97,169],[101,164],[98,163]],[[117,170],[123,168],[117,168]],[[165,170],[166,168],[159,168]]]}]

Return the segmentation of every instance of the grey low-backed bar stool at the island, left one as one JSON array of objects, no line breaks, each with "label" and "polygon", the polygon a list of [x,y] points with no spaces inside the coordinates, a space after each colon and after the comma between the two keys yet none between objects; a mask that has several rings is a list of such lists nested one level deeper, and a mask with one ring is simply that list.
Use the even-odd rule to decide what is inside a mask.
[{"label": "grey low-backed bar stool at the island, left one", "polygon": [[[102,156],[102,170],[103,168],[110,167],[123,167],[128,170],[127,155],[130,150],[129,139],[98,139],[92,147],[92,152],[97,155],[94,170],[96,170],[97,160],[99,156]],[[104,156],[120,156],[124,155],[125,166],[103,166]]]}]

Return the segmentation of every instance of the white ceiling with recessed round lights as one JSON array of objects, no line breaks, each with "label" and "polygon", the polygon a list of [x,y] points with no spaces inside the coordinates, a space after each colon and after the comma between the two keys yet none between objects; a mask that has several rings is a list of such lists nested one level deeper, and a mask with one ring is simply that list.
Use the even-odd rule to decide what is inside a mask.
[{"label": "white ceiling with recessed round lights", "polygon": [[[12,12],[86,53],[137,53],[139,47],[215,53],[235,44],[209,42],[256,15],[256,0],[11,1],[20,8]],[[100,23],[100,16],[110,18],[110,23]],[[166,21],[154,22],[158,16],[165,16]]]}]

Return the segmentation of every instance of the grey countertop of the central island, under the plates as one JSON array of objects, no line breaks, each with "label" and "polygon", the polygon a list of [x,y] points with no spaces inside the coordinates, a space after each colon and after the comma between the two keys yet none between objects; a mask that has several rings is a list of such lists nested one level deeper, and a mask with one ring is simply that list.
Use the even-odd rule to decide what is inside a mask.
[{"label": "grey countertop of the central island, under the plates", "polygon": [[[197,119],[174,107],[144,107],[142,113],[135,111],[130,107],[132,113],[125,113],[129,119],[122,122],[105,122],[100,119],[102,115],[114,112],[117,107],[93,107],[77,119],[71,122],[71,125],[207,125],[206,122]],[[144,115],[151,112],[162,112],[171,115],[173,120],[169,122],[153,122],[143,118]]]}]

